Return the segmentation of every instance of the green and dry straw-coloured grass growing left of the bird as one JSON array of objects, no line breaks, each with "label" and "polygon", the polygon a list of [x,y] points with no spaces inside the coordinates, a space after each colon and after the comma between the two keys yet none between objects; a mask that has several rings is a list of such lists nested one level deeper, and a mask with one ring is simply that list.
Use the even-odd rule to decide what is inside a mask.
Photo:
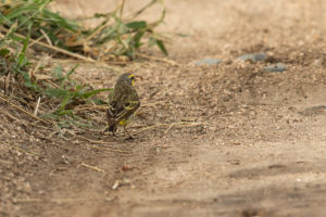
[{"label": "green and dry straw-coloured grass growing left of the bird", "polygon": [[[0,91],[15,100],[24,110],[34,111],[38,101],[40,117],[54,120],[60,128],[90,127],[90,118],[84,111],[103,110],[105,102],[97,95],[111,89],[93,89],[90,85],[75,80],[73,75],[78,65],[67,72],[57,66],[48,73],[48,68],[40,63],[36,64],[30,56],[42,51],[52,56],[71,53],[71,56],[92,62],[109,61],[112,56],[120,55],[133,60],[137,58],[140,48],[153,44],[167,55],[165,38],[155,31],[165,16],[164,3],[162,0],[151,0],[134,14],[124,17],[123,0],[116,10],[95,14],[91,18],[101,22],[88,29],[76,21],[49,10],[50,2],[51,0],[1,1]],[[155,22],[137,20],[154,4],[162,7],[162,13]],[[42,79],[38,79],[40,75],[43,76]]]}]

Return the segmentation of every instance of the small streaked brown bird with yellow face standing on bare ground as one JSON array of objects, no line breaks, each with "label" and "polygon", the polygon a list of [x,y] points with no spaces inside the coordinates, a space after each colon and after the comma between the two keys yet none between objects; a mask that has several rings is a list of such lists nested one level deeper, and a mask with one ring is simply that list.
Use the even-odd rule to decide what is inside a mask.
[{"label": "small streaked brown bird with yellow face standing on bare ground", "polygon": [[112,131],[113,136],[117,126],[124,127],[130,123],[136,110],[140,106],[138,93],[134,88],[135,76],[131,73],[122,74],[114,86],[113,91],[109,94],[109,107],[106,110],[106,128],[104,131]]}]

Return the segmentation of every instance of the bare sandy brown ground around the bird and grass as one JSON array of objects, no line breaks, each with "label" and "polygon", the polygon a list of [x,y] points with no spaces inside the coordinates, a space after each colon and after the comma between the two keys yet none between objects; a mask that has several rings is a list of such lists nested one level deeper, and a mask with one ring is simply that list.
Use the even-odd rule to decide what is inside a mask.
[{"label": "bare sandy brown ground around the bird and grass", "polygon": [[[115,5],[73,2],[55,7],[74,17]],[[137,68],[134,140],[99,130],[78,133],[108,143],[66,140],[16,122],[22,114],[0,102],[0,216],[325,216],[326,1],[165,3],[160,29],[186,35],[167,46],[179,65],[120,68]],[[268,58],[236,61],[253,52]],[[193,64],[205,58],[223,62]],[[287,71],[262,69],[278,62]],[[77,74],[95,87],[118,76],[89,64]]]}]

